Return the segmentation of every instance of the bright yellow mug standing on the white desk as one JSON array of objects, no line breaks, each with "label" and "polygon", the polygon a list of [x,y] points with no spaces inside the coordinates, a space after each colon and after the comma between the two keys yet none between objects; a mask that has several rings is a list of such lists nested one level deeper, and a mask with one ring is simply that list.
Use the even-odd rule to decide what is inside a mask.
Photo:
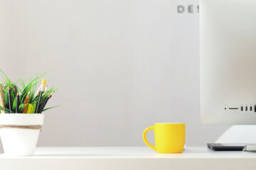
[{"label": "bright yellow mug standing on the white desk", "polygon": [[[146,140],[146,133],[154,130],[156,146]],[[155,123],[143,132],[145,144],[159,153],[182,153],[185,145],[185,123]]]}]

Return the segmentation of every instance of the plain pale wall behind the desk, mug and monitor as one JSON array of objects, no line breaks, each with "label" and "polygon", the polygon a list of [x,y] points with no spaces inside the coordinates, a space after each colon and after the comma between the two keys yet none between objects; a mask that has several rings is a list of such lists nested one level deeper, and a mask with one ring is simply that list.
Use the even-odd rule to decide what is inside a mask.
[{"label": "plain pale wall behind the desk, mug and monitor", "polygon": [[60,88],[38,145],[140,146],[156,122],[186,123],[188,145],[214,142],[227,127],[200,123],[197,5],[0,0],[1,69],[13,79],[48,71]]}]

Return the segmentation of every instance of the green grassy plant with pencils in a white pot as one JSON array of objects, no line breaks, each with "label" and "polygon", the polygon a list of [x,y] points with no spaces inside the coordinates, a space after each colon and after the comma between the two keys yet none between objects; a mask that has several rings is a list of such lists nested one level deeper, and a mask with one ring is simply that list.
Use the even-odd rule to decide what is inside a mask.
[{"label": "green grassy plant with pencils in a white pot", "polygon": [[[14,156],[32,155],[43,125],[43,112],[55,88],[48,89],[46,80],[11,81],[0,69],[4,82],[0,82],[0,136],[4,153]],[[18,85],[21,85],[20,87]],[[51,107],[55,108],[55,107]]]}]

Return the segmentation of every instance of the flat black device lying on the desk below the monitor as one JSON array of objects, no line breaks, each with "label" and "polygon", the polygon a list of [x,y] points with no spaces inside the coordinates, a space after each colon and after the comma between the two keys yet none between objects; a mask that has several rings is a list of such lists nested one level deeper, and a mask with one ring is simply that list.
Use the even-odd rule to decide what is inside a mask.
[{"label": "flat black device lying on the desk below the monitor", "polygon": [[208,148],[214,151],[242,151],[245,144],[220,144],[220,143],[208,143]]}]

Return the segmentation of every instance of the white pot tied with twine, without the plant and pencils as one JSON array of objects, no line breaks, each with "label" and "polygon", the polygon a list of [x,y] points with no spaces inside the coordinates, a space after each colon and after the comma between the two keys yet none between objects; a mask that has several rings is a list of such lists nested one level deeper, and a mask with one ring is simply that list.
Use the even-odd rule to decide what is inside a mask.
[{"label": "white pot tied with twine, without the plant and pencils", "polygon": [[[7,126],[6,126],[7,125]],[[1,142],[4,154],[12,156],[33,155],[40,129],[8,128],[8,125],[43,125],[43,114],[2,113],[0,114]]]}]

